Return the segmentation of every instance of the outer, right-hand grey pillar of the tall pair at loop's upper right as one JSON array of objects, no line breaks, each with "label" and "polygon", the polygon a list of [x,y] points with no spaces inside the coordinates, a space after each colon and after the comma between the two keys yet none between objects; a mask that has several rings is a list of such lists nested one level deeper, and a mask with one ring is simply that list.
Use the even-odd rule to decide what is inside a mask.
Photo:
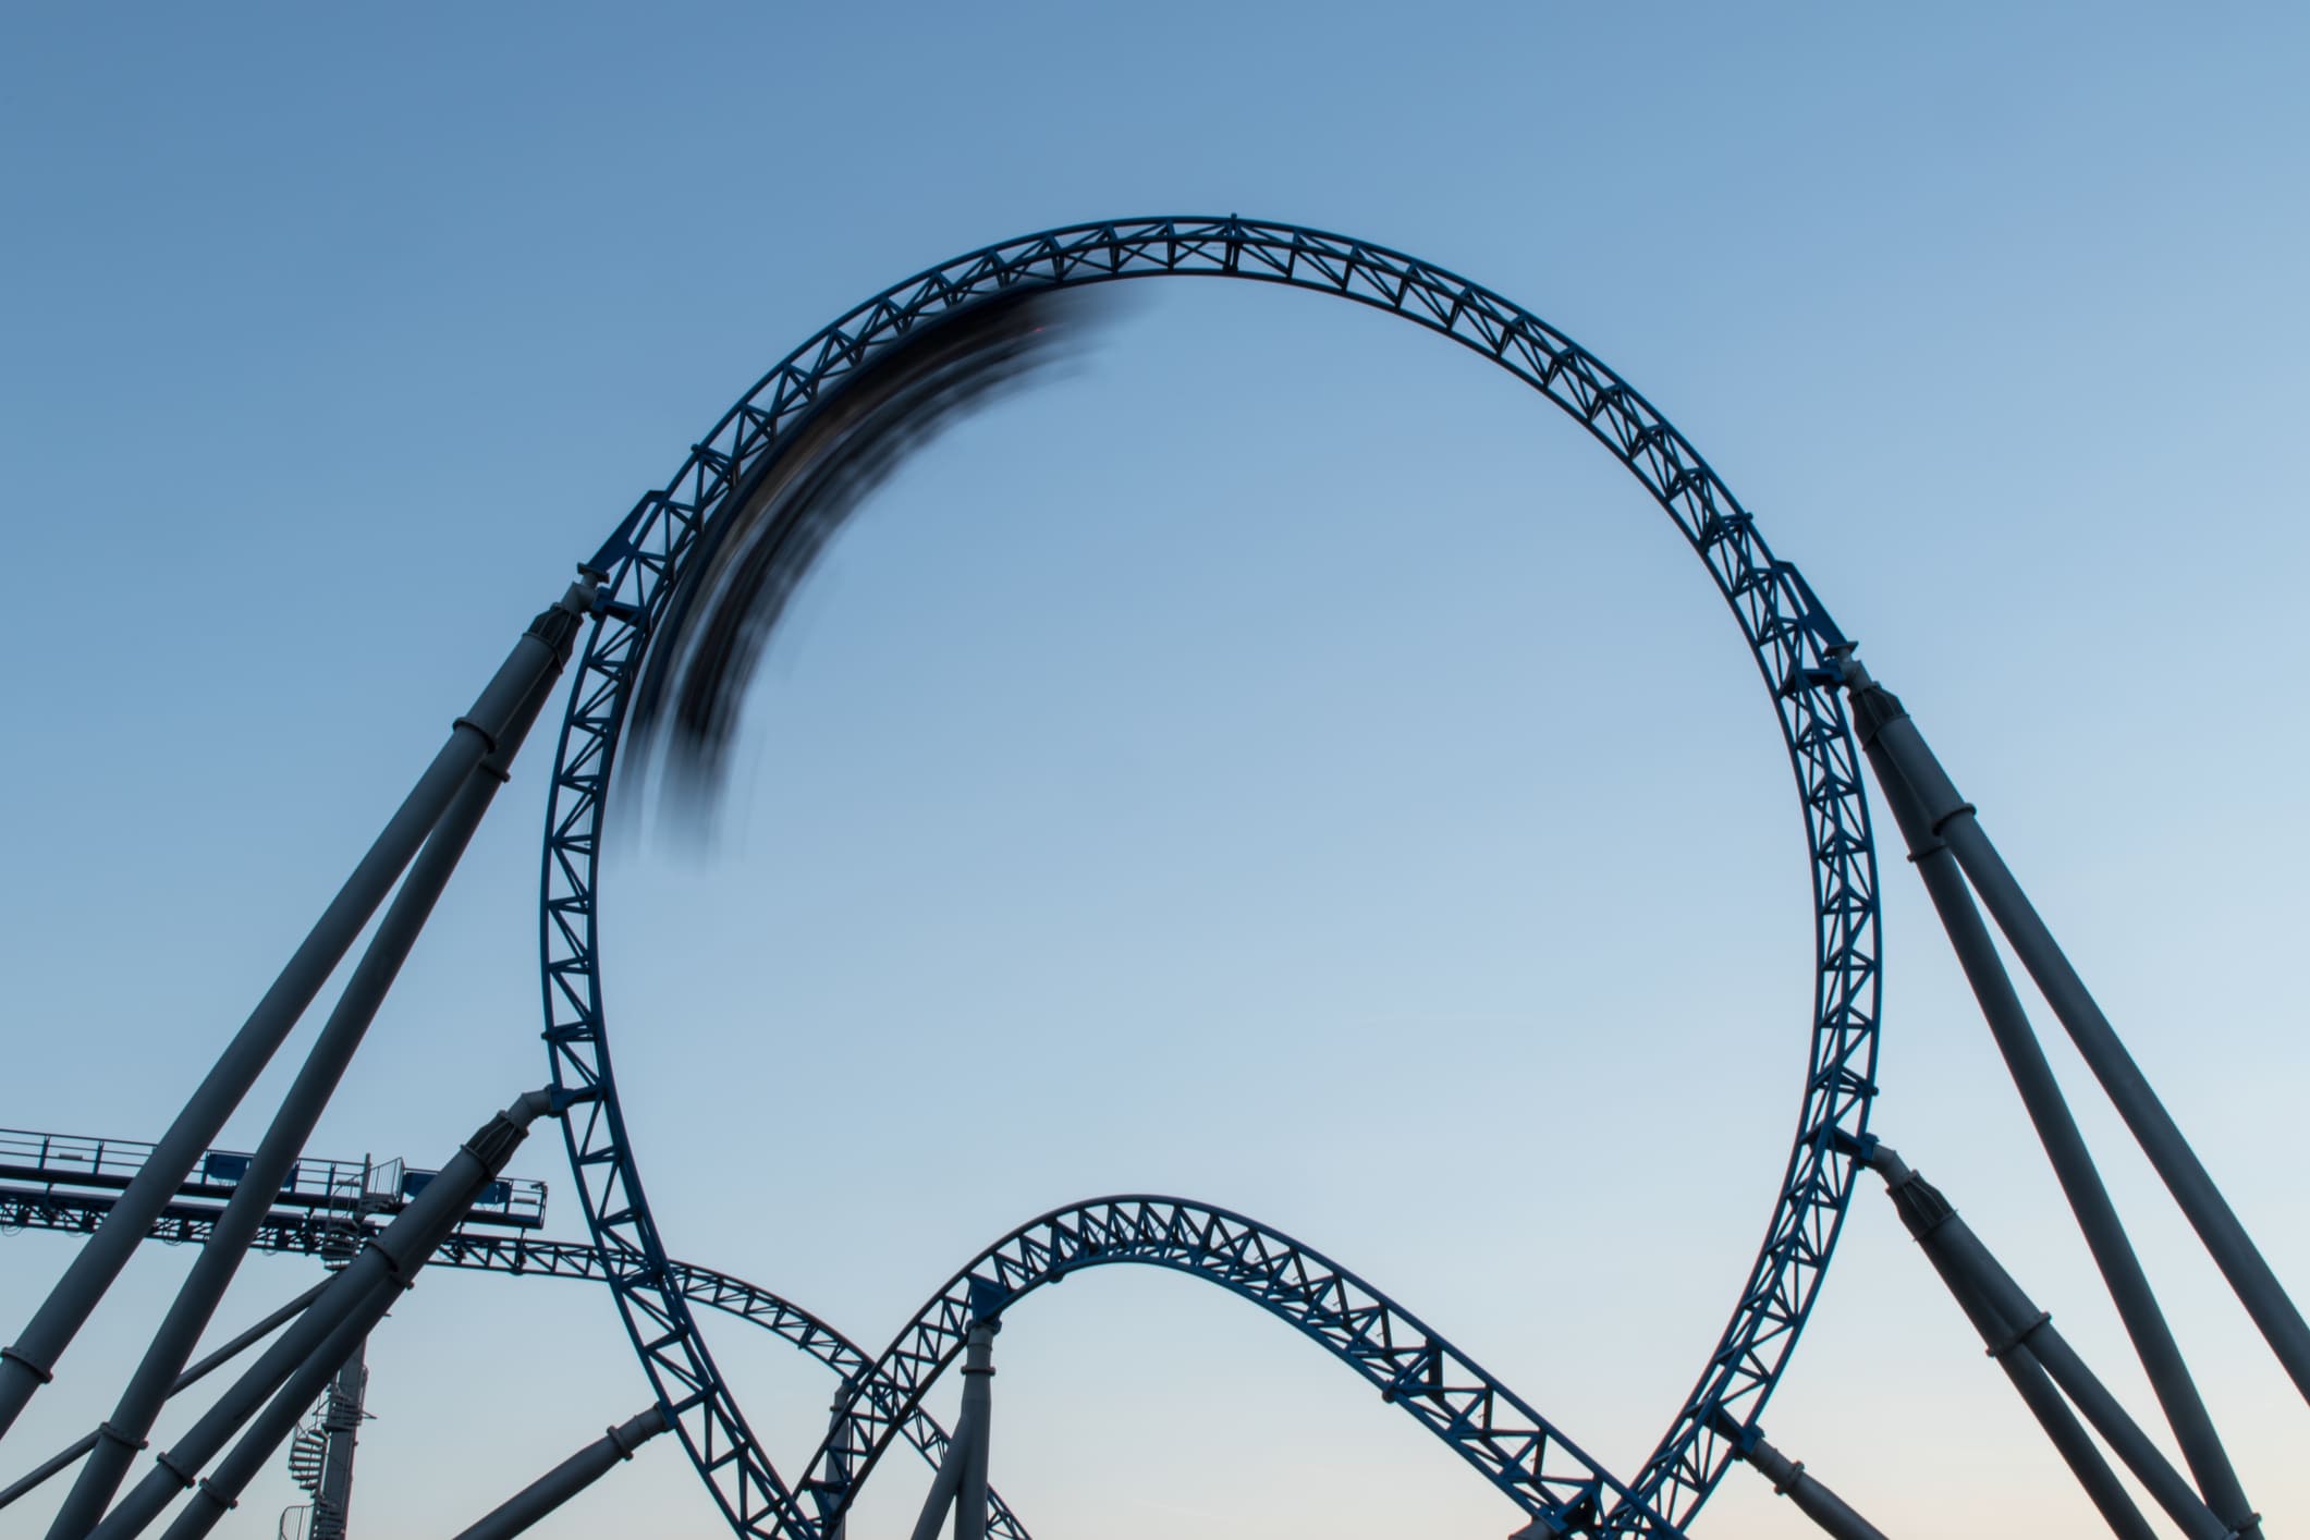
[{"label": "outer, right-hand grey pillar of the tall pair at loop's upper right", "polygon": [[[1998,930],[2005,933],[2014,956],[2021,958],[2030,979],[2037,981],[2037,990],[2054,1007],[2054,1016],[2061,1018],[2061,1025],[2070,1032],[2070,1041],[2077,1044],[2079,1055],[2084,1055],[2093,1076],[2102,1083],[2125,1127],[2132,1129],[2141,1152],[2158,1168],[2167,1191],[2174,1194],[2174,1203],[2181,1205],[2183,1217],[2190,1219],[2190,1226],[2206,1244],[2222,1277],[2229,1279],[2238,1302],[2245,1304],[2245,1314],[2252,1316],[2255,1328],[2271,1344],[2278,1362],[2285,1365],[2294,1388],[2303,1399],[2310,1399],[2310,1325],[2303,1323],[2301,1309],[2287,1298],[2278,1274],[2229,1210],[2222,1191],[2190,1147],[2190,1141],[2183,1138],[2174,1115],[2164,1111],[2158,1092],[2151,1090],[2148,1076],[2141,1074],[2125,1044],[2118,1041],[2116,1027],[2109,1025],[2102,1007],[2095,1004],[2077,967],[2063,956],[2051,928],[2047,928],[2035,905],[2030,905],[2028,894],[2021,891],[2021,884],[2007,870],[2005,857],[1989,843],[1973,803],[1957,792],[1940,760],[1927,746],[1924,734],[1917,732],[1917,723],[1910,720],[1890,690],[1869,679],[1869,670],[1857,660],[1846,658],[1843,670],[1855,707],[1869,693],[1883,695],[1890,702],[1890,713],[1883,713],[1876,737],[1883,739],[1883,753],[1913,787],[1931,833],[1947,840],[1957,864],[1964,866],[1973,889],[1998,921]],[[1869,757],[1876,762],[1878,753],[1871,750]],[[1885,771],[1878,769],[1878,783],[1883,780]]]}]

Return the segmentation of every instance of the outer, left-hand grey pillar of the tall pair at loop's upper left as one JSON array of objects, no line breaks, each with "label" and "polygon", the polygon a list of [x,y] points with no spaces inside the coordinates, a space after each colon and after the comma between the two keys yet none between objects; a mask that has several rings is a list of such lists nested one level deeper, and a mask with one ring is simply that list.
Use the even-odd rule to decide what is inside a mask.
[{"label": "outer, left-hand grey pillar of the tall pair at loop's upper left", "polygon": [[[448,741],[418,776],[416,787],[386,822],[377,843],[353,866],[353,875],[337,889],[321,919],[291,954],[289,965],[273,979],[273,988],[256,1002],[233,1041],[178,1111],[143,1171],[113,1201],[111,1212],[65,1268],[65,1277],[49,1291],[23,1335],[0,1348],[0,1436],[16,1422],[32,1392],[53,1378],[55,1360],[88,1323],[104,1291],[120,1277],[120,1268],[127,1265],[152,1221],[182,1187],[194,1161],[217,1138],[217,1129],[240,1106],[312,997],[321,993],[328,974],[335,972],[360,928],[370,924],[370,914],[386,900],[395,877],[441,822],[457,790],[474,776],[474,767],[497,748],[494,734],[529,697],[536,679],[561,670],[580,619],[594,607],[594,584],[596,575],[584,573],[513,644],[513,653],[499,665],[497,676],[474,700],[471,711],[450,727]],[[162,1383],[166,1378],[162,1376]]]}]

